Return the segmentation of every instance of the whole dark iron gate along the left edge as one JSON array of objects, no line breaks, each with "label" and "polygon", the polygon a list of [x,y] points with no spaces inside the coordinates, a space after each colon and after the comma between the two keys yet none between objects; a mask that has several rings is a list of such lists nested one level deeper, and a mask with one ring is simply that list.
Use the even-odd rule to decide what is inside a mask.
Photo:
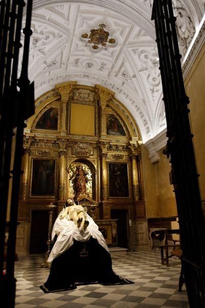
[{"label": "whole dark iron gate along the left edge", "polygon": [[[28,79],[29,44],[32,0],[27,1],[24,53],[20,78],[17,79],[18,54],[22,32],[23,0],[0,2],[0,296],[6,308],[15,302],[15,242],[18,214],[18,195],[23,150],[24,121],[34,113],[34,85]],[[18,88],[19,90],[18,90]],[[11,148],[15,135],[15,155],[11,168]],[[12,177],[8,247],[5,249],[6,214],[9,180]],[[4,259],[6,275],[3,274]]]}]

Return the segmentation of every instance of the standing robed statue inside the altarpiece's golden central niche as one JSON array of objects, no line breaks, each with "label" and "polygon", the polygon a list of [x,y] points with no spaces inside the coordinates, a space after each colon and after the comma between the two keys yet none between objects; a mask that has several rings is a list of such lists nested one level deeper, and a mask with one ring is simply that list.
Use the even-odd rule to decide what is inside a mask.
[{"label": "standing robed statue inside the altarpiece's golden central niche", "polygon": [[86,194],[86,183],[88,182],[88,172],[82,165],[76,166],[69,180],[72,180],[75,196]]}]

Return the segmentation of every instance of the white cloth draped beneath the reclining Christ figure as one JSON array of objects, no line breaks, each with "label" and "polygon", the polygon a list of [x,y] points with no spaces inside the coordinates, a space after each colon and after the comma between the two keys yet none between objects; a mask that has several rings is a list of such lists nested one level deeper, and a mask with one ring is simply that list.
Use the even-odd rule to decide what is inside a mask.
[{"label": "white cloth draped beneath the reclining Christ figure", "polygon": [[79,242],[86,242],[91,236],[109,252],[103,235],[98,230],[98,226],[94,220],[88,214],[87,220],[89,221],[89,225],[86,231],[84,231],[82,228],[77,228],[77,225],[70,220],[69,215],[64,219],[60,219],[59,217],[62,213],[64,213],[64,209],[58,215],[53,226],[51,239],[53,240],[55,234],[57,234],[58,237],[49,255],[48,262],[52,262],[55,258],[67,251],[67,249],[73,245],[74,239]]}]

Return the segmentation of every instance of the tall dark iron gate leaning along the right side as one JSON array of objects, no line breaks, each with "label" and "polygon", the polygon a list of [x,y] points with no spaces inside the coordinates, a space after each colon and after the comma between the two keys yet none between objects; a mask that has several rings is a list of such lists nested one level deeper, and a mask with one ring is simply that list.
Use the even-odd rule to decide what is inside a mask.
[{"label": "tall dark iron gate leaning along the right side", "polygon": [[163,100],[167,118],[167,148],[177,203],[182,242],[182,271],[191,308],[204,307],[205,228],[194,148],[189,123],[189,98],[181,72],[171,0],[154,0],[155,22]]}]

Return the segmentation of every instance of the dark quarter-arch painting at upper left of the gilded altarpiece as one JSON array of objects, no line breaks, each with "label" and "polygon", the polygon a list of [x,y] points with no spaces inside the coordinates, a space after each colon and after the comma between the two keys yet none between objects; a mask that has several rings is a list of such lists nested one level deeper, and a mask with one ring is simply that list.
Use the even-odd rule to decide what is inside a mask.
[{"label": "dark quarter-arch painting at upper left of the gilded altarpiece", "polygon": [[57,126],[58,126],[58,109],[49,108],[42,114],[42,116],[36,123],[35,128],[57,130]]}]

